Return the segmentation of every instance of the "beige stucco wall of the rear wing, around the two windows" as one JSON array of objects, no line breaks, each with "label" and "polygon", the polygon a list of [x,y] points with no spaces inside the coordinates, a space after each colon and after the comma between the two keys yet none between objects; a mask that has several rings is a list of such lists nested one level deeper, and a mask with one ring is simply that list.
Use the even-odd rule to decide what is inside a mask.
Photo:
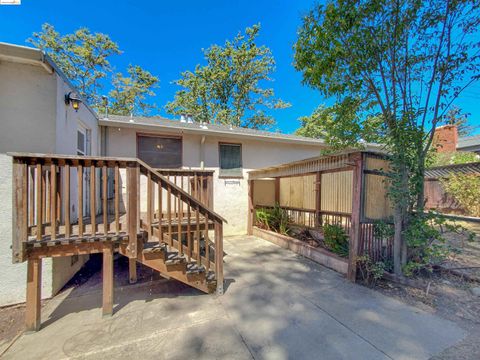
[{"label": "beige stucco wall of the rear wing, around the two windows", "polygon": [[[109,127],[107,130],[108,156],[136,156],[136,134],[176,134],[183,139],[183,167],[199,168],[201,161],[201,135],[181,134],[166,130],[137,130],[133,128]],[[219,178],[218,143],[232,142],[242,144],[243,178]],[[214,208],[223,216],[228,224],[225,225],[225,235],[245,234],[247,232],[248,211],[248,184],[247,172],[266,166],[283,164],[295,160],[319,155],[318,145],[299,145],[286,142],[268,141],[260,139],[241,139],[228,136],[205,137],[205,168],[215,170],[214,174]],[[142,198],[142,201],[144,198]],[[145,209],[145,204],[142,205]]]}]

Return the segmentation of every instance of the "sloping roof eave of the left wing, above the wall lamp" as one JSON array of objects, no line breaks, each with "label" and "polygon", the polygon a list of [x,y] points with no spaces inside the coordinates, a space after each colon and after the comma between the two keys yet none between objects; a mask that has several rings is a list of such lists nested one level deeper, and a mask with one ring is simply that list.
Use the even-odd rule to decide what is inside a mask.
[{"label": "sloping roof eave of the left wing, above the wall lamp", "polygon": [[[16,62],[20,64],[29,64],[42,66],[49,74],[54,72],[62,78],[65,83],[81,97],[78,89],[73,85],[72,81],[63,73],[57,64],[48,56],[44,51],[32,48],[28,46],[15,45],[10,43],[0,42],[0,60],[8,62]],[[86,103],[82,101],[82,104],[96,117],[97,113]]]}]

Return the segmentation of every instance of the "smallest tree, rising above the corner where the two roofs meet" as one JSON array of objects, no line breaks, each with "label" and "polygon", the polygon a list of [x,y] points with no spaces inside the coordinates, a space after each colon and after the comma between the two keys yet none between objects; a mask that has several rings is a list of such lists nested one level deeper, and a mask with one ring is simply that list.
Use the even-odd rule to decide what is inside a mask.
[{"label": "smallest tree, rising above the corner where the two roofs meet", "polygon": [[155,96],[152,89],[158,87],[159,79],[138,65],[129,65],[128,76],[117,73],[113,76],[110,91],[110,111],[117,115],[148,115],[155,105],[145,101]]}]

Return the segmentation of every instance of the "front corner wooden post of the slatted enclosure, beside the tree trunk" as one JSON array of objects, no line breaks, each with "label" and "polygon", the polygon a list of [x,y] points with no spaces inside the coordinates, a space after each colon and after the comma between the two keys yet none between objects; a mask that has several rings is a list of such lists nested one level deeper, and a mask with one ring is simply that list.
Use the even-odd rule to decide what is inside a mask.
[{"label": "front corner wooden post of the slatted enclosure, beside the tree trunk", "polygon": [[355,162],[353,169],[353,191],[352,191],[352,218],[350,226],[350,246],[348,254],[348,272],[347,278],[355,282],[357,278],[357,256],[360,243],[360,216],[362,211],[362,153],[354,154],[352,159]]}]

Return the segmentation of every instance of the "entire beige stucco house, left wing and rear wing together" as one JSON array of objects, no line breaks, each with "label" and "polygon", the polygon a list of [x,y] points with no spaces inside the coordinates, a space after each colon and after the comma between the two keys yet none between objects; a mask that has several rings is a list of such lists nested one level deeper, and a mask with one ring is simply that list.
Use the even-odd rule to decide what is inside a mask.
[{"label": "entire beige stucco house, left wing and rear wing together", "polygon": [[[27,277],[27,264],[12,264],[12,252],[14,262],[23,262],[27,260],[23,247],[28,239],[37,237],[45,242],[48,236],[54,240],[53,235],[60,230],[64,232],[64,239],[68,238],[70,230],[77,231],[77,238],[88,230],[98,240],[97,231],[103,230],[107,234],[117,225],[117,233],[123,234],[122,226],[131,224],[133,220],[124,219],[125,224],[120,224],[118,219],[121,214],[125,217],[131,213],[127,209],[132,200],[132,186],[138,189],[142,214],[148,215],[153,207],[148,190],[150,183],[147,181],[153,182],[151,179],[154,178],[156,184],[163,187],[162,192],[173,198],[172,211],[167,212],[173,213],[174,217],[179,218],[179,211],[186,212],[187,205],[188,210],[193,211],[190,206],[199,200],[201,204],[197,205],[197,215],[200,213],[199,221],[204,221],[206,228],[213,229],[212,221],[217,224],[225,219],[223,234],[246,234],[246,173],[260,167],[316,156],[324,148],[320,140],[198,124],[185,119],[174,121],[159,117],[114,115],[99,118],[81,99],[75,100],[78,98],[75,87],[52,59],[34,48],[0,43],[0,80],[0,198],[4,203],[0,210],[0,306],[25,301],[25,289],[19,284],[23,284]],[[22,180],[20,177],[23,182],[17,183],[19,177],[14,175],[16,165],[12,165],[12,157],[7,155],[12,152],[51,155],[14,156],[15,164],[28,169],[25,178]],[[83,160],[84,156],[91,160]],[[102,160],[105,158],[98,156],[108,156],[110,160]],[[132,183],[135,177],[129,178],[129,166],[134,162],[132,158],[145,161],[137,163],[137,170],[144,171],[138,184]],[[34,163],[36,165],[33,166]],[[156,178],[158,172],[154,173],[146,166],[161,170],[162,175],[169,177],[168,180]],[[139,174],[137,178],[140,178]],[[176,187],[179,185],[177,178],[183,181],[180,190]],[[20,184],[20,191],[12,192],[12,182]],[[149,185],[144,187],[146,184]],[[203,187],[206,187],[204,193],[209,194],[206,196],[208,199],[203,198]],[[182,193],[183,190],[187,193]],[[19,198],[23,202],[19,203]],[[166,210],[166,199],[167,196],[164,196],[160,206],[158,200],[153,203]],[[24,213],[21,219],[25,229],[19,233],[17,217],[27,208],[28,213]],[[96,216],[92,216],[91,209],[95,209]],[[96,219],[107,214],[103,211],[105,209],[108,209],[109,216],[111,213],[118,215],[113,225],[107,225],[106,218],[103,218],[103,225]],[[139,221],[137,230],[140,225],[145,225],[139,218],[135,218]],[[151,218],[150,225],[153,221]],[[165,229],[171,231],[170,225]],[[181,226],[181,221],[178,221],[178,226]],[[157,230],[161,233],[162,226]],[[152,232],[148,232],[149,236]],[[116,236],[120,239],[123,235]],[[208,239],[208,234],[202,235],[202,241],[205,237]],[[170,239],[175,241],[172,237]],[[121,242],[121,239],[118,241]],[[200,244],[200,239],[197,238],[196,243]],[[47,256],[41,261],[37,258],[32,263],[34,265],[29,265],[29,271],[39,271],[43,262],[42,288],[41,291],[32,290],[33,293],[38,295],[41,292],[43,298],[51,297],[80,269],[88,254],[95,252],[77,250],[64,252],[60,254],[62,256]],[[132,248],[128,251],[132,257],[133,253],[136,254]],[[147,262],[148,259],[144,263]]]}]

